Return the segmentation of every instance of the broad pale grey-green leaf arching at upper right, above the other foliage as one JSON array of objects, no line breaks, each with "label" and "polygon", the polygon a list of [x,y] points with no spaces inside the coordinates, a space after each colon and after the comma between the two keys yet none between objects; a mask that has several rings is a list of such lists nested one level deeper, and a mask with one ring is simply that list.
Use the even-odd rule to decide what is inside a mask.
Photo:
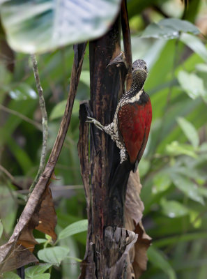
[{"label": "broad pale grey-green leaf arching at upper right, above the other foliage", "polygon": [[199,29],[186,20],[176,18],[160,20],[158,23],[151,23],[146,27],[141,38],[163,38],[174,39],[180,36],[180,32],[200,33]]}]

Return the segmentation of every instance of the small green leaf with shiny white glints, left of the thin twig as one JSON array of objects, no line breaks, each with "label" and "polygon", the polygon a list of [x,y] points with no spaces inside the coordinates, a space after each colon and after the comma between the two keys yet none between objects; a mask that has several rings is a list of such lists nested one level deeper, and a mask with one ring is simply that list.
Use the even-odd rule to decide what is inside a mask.
[{"label": "small green leaf with shiny white glints, left of the thin twig", "polygon": [[12,84],[12,89],[8,92],[10,98],[15,100],[36,99],[37,93],[26,83]]}]

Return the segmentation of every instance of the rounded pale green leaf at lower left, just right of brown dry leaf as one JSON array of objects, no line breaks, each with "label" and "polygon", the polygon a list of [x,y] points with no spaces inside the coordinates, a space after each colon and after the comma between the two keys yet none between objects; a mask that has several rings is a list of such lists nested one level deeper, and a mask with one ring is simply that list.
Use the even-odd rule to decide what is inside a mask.
[{"label": "rounded pale green leaf at lower left, just right of brown dry leaf", "polygon": [[66,258],[70,249],[68,247],[51,247],[38,251],[38,258],[49,264],[59,266],[63,259]]}]

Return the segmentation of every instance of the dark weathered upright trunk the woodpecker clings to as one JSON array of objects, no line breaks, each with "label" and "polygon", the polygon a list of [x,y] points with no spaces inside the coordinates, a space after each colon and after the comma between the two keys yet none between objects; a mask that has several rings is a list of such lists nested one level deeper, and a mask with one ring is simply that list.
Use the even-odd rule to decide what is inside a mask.
[{"label": "dark weathered upright trunk the woodpecker clings to", "polygon": [[127,181],[119,183],[113,192],[110,189],[114,173],[120,165],[119,150],[106,133],[91,125],[89,160],[89,124],[85,123],[87,115],[103,125],[111,123],[123,94],[127,73],[125,66],[107,67],[121,52],[120,22],[118,17],[105,36],[89,44],[91,100],[80,106],[78,144],[89,229],[79,278],[126,278],[128,250],[137,240],[135,233],[123,228]]}]

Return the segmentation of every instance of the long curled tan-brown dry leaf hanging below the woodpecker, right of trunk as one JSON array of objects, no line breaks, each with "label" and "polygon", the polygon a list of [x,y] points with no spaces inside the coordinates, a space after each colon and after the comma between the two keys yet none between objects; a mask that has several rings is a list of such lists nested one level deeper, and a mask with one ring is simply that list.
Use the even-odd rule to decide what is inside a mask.
[{"label": "long curled tan-brown dry leaf hanging below the woodpecker, right of trunk", "polygon": [[146,234],[141,223],[144,204],[139,197],[140,191],[141,183],[139,171],[137,170],[135,173],[130,173],[125,200],[125,227],[138,234],[138,239],[130,249],[128,257],[128,264],[130,264],[128,278],[136,279],[146,270],[146,251],[151,245],[151,237]]}]

